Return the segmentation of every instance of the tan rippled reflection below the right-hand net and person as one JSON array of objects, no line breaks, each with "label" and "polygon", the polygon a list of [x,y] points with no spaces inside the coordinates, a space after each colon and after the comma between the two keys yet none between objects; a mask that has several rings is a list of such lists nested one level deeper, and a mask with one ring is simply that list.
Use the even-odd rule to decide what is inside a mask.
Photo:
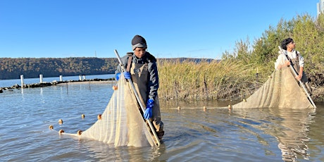
[{"label": "tan rippled reflection below the right-hand net and person", "polygon": [[[297,161],[298,158],[309,160],[309,125],[313,123],[316,111],[311,108],[256,108],[235,110],[244,119],[251,119],[246,122],[257,127],[268,135],[272,135],[278,140],[278,148],[282,152],[283,161]],[[266,139],[259,139],[262,144]]]}]

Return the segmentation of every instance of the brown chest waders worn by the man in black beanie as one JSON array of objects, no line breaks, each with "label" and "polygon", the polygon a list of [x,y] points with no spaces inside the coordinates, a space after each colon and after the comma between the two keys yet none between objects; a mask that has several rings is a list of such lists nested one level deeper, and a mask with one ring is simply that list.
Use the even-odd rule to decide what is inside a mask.
[{"label": "brown chest waders worn by the man in black beanie", "polygon": [[[132,56],[128,57],[127,69],[132,76],[132,82],[135,89],[139,92],[139,98],[142,103],[147,103],[148,96],[148,80],[149,80],[149,65],[147,63],[132,63]],[[154,100],[154,106],[152,108],[152,117],[150,118],[156,129],[156,135],[159,139],[162,139],[164,135],[163,122],[161,121],[160,102],[158,101],[158,95]]]}]

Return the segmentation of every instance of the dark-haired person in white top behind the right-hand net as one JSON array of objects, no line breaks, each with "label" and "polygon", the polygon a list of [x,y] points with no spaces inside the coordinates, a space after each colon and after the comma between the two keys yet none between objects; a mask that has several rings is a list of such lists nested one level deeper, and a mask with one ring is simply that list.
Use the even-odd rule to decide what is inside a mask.
[{"label": "dark-haired person in white top behind the right-hand net", "polygon": [[[311,86],[304,72],[304,58],[299,51],[295,50],[296,44],[292,38],[282,40],[281,49],[277,61],[275,61],[275,69],[281,69],[285,66],[293,66],[297,72],[296,80],[300,80],[306,86],[307,91],[311,94]],[[291,65],[292,64],[292,65]]]}]

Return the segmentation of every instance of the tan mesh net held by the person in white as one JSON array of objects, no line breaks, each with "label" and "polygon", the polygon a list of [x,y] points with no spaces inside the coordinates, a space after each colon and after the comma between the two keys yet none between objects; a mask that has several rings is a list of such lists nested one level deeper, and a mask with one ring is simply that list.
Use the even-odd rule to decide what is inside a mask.
[{"label": "tan mesh net held by the person in white", "polygon": [[313,108],[290,69],[275,70],[254,94],[232,108]]}]

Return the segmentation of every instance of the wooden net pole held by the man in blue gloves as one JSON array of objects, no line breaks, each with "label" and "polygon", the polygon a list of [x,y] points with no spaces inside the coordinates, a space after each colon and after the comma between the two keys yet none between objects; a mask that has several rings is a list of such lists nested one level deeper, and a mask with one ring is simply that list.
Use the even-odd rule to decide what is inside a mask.
[{"label": "wooden net pole held by the man in blue gloves", "polygon": [[[118,54],[118,51],[117,51],[116,49],[115,49],[115,54],[116,54],[116,56],[117,56],[117,58],[118,58],[119,66],[120,66],[120,67],[122,68],[122,70],[125,72],[125,71],[126,71],[125,66],[123,65],[123,62],[121,61],[120,56],[119,56],[119,54]],[[137,93],[137,91],[136,91],[136,89],[135,89],[134,83],[132,82],[131,79],[127,79],[127,80],[128,80],[128,82],[130,82],[130,87],[132,87],[132,91],[134,92],[134,94],[135,94],[135,96],[136,96],[136,99],[137,99],[137,102],[138,102],[139,106],[141,107],[142,111],[145,112],[145,108],[144,108],[144,106],[143,106],[143,104],[142,104],[142,101],[139,99],[139,95],[138,95],[138,93]],[[147,123],[149,124],[149,129],[151,130],[151,132],[152,132],[152,134],[153,134],[153,136],[154,136],[154,138],[155,138],[154,141],[156,141],[156,142],[155,142],[156,145],[157,145],[157,146],[160,146],[161,142],[160,142],[160,140],[158,139],[158,135],[156,135],[156,132],[155,132],[155,130],[154,130],[154,127],[153,127],[151,121],[148,120],[148,119],[145,119],[145,120],[146,120]]]}]

